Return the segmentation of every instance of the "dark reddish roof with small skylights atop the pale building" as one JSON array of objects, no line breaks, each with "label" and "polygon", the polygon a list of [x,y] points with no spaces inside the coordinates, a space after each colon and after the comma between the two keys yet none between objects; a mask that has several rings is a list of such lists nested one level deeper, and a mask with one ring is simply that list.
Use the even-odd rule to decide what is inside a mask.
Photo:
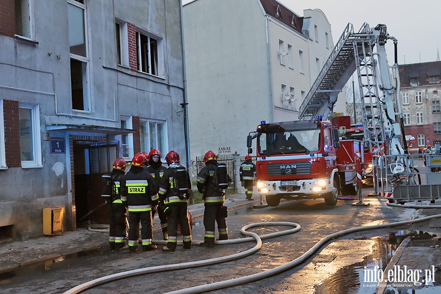
[{"label": "dark reddish roof with small skylights atop the pale building", "polygon": [[[262,3],[262,7],[265,9],[265,12],[268,15],[270,15],[274,19],[279,20],[283,24],[291,27],[292,29],[303,35],[303,17],[298,16],[289,8],[283,6],[283,4],[277,2],[276,0],[260,0],[260,2]],[[293,25],[293,18],[295,25]]]}]

